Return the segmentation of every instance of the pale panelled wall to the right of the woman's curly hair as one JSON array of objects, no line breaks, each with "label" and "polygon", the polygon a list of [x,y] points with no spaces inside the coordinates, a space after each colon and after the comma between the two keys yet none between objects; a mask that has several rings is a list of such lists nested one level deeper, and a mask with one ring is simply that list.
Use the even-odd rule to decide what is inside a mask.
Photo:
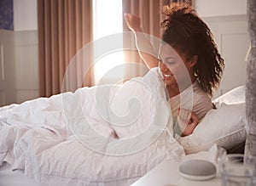
[{"label": "pale panelled wall to the right of the woman's curly hair", "polygon": [[215,97],[246,82],[247,34],[246,0],[195,0],[198,14],[210,27],[224,58],[224,75]]}]

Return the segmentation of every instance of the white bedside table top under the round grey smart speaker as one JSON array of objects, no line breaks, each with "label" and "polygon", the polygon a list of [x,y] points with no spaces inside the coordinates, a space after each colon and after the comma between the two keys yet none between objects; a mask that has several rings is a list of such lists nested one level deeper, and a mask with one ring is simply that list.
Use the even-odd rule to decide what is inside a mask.
[{"label": "white bedside table top under the round grey smart speaker", "polygon": [[177,161],[163,161],[159,166],[148,172],[131,186],[220,186],[218,173],[206,181],[194,181],[183,178],[179,172],[180,163]]}]

